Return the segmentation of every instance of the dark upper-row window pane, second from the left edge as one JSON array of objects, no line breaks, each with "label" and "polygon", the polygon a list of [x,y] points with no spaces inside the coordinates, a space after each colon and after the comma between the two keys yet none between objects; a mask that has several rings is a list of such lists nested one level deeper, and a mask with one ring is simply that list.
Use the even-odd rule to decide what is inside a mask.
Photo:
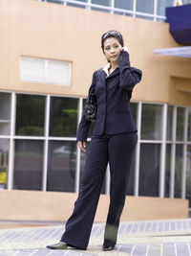
[{"label": "dark upper-row window pane, second from the left edge", "polygon": [[44,120],[44,96],[17,95],[16,135],[43,136]]}]

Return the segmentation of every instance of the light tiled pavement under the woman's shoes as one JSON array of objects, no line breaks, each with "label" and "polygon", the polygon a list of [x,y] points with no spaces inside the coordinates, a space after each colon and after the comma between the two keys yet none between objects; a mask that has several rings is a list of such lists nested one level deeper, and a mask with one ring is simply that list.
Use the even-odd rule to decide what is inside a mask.
[{"label": "light tiled pavement under the woman's shoes", "polygon": [[86,251],[50,250],[47,244],[57,243],[64,231],[63,225],[16,227],[0,230],[0,255],[17,256],[191,256],[191,220],[129,221],[121,222],[115,251],[103,252],[104,224],[93,226]]}]

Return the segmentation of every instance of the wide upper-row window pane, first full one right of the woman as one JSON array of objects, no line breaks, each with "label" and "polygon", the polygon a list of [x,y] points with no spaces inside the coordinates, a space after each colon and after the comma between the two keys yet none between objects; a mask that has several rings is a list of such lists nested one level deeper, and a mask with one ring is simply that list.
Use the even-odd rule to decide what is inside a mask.
[{"label": "wide upper-row window pane, first full one right of the woman", "polygon": [[141,139],[160,140],[162,125],[161,105],[142,105]]}]

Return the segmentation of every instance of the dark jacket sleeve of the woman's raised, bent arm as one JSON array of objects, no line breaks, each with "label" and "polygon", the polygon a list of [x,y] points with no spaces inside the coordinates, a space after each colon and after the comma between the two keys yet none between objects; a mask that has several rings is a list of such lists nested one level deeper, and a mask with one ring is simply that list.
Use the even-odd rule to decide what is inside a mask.
[{"label": "dark jacket sleeve of the woman's raised, bent arm", "polygon": [[134,86],[141,80],[142,71],[138,68],[131,67],[128,52],[120,52],[118,68],[120,70],[119,86],[127,91],[133,90]]}]

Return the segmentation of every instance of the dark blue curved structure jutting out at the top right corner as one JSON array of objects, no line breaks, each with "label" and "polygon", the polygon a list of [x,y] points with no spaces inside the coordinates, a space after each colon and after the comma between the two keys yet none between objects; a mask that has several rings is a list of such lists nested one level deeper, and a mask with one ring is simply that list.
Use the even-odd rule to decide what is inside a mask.
[{"label": "dark blue curved structure jutting out at the top right corner", "polygon": [[191,4],[166,8],[166,17],[175,40],[180,44],[191,45]]}]

